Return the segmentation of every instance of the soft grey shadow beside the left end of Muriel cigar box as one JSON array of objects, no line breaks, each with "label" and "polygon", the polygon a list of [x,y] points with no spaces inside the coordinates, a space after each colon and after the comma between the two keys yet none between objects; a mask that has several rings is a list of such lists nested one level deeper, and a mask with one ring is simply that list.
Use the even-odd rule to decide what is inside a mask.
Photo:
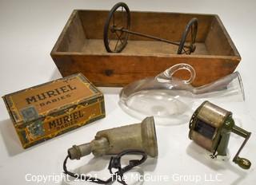
[{"label": "soft grey shadow beside the left end of Muriel cigar box", "polygon": [[4,141],[6,150],[10,156],[14,156],[25,151],[25,149],[22,148],[22,144],[18,139],[14,124],[11,120],[1,120],[0,131],[2,140]]}]

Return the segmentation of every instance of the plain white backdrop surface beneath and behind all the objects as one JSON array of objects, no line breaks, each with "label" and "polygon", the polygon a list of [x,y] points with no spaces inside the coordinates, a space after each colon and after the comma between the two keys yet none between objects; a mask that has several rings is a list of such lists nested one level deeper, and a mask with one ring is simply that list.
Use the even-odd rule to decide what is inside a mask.
[{"label": "plain white backdrop surface beneath and behind all the objects", "polygon": [[[26,89],[61,77],[50,57],[50,50],[74,9],[110,10],[117,1],[53,1],[22,0],[0,1],[0,96]],[[230,161],[216,163],[206,159],[202,148],[187,137],[188,124],[159,126],[158,160],[148,159],[138,171],[153,178],[167,175],[167,182],[158,184],[253,184],[256,182],[256,111],[255,111],[255,33],[256,2],[251,1],[125,1],[130,10],[150,10],[186,13],[218,14],[241,54],[238,71],[246,93],[242,104],[222,104],[234,113],[234,119],[246,130],[253,132],[241,156],[251,160],[249,171],[240,169]],[[53,140],[22,149],[9,119],[3,101],[0,101],[0,183],[37,184],[26,182],[26,174],[61,175],[66,149],[73,144],[93,140],[99,130],[139,122],[118,107],[119,89],[102,89],[106,98],[106,118],[58,136]],[[234,156],[242,139],[230,138],[230,154]],[[199,153],[198,153],[199,152]],[[201,154],[200,154],[201,152]],[[95,159],[88,155],[69,164],[78,172],[108,175],[108,159]],[[186,177],[190,180],[186,182]],[[220,179],[220,182],[205,181]],[[180,179],[177,177],[180,176]],[[29,180],[31,176],[28,176]],[[48,176],[49,177],[49,176]],[[57,180],[58,181],[58,180]],[[38,183],[39,184],[39,183]],[[46,184],[80,184],[53,180]],[[146,181],[145,184],[156,184]]]}]

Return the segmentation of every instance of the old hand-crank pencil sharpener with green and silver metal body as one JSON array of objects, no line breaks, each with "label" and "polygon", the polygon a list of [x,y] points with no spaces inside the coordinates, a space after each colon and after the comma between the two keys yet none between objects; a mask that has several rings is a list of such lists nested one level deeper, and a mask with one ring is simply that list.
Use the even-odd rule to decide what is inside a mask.
[{"label": "old hand-crank pencil sharpener with green and silver metal body", "polygon": [[239,153],[250,138],[250,132],[234,124],[232,112],[226,111],[209,101],[203,102],[190,120],[190,140],[212,152],[211,157],[226,155],[230,133],[242,136],[245,140],[234,156],[233,162],[243,169],[250,168],[250,160],[239,157]]}]

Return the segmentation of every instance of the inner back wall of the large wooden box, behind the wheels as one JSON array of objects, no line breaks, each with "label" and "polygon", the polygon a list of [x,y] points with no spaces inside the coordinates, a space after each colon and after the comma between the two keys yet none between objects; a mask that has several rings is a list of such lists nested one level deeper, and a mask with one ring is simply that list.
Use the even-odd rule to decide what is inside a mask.
[{"label": "inner back wall of the large wooden box, behind the wheels", "polygon": [[[78,10],[82,26],[87,38],[102,39],[103,28],[109,11],[101,10]],[[162,37],[171,41],[180,41],[182,32],[191,18],[198,18],[197,41],[203,42],[206,39],[211,21],[214,15],[210,14],[180,14],[162,12],[138,12],[130,13],[130,30],[140,33]],[[118,16],[116,16],[118,17]],[[149,38],[130,35],[130,40],[149,41]]]}]

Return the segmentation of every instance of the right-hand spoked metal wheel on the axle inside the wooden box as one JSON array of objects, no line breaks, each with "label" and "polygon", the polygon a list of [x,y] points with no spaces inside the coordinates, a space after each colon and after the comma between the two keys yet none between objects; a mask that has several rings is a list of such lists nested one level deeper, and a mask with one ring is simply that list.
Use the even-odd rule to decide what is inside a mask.
[{"label": "right-hand spoked metal wheel on the axle inside the wooden box", "polygon": [[[184,32],[182,33],[182,39],[178,46],[177,54],[190,54],[193,53],[195,46],[195,39],[198,33],[198,19],[192,18],[190,22],[187,23]],[[189,45],[186,44],[186,41],[189,41]]]}]

